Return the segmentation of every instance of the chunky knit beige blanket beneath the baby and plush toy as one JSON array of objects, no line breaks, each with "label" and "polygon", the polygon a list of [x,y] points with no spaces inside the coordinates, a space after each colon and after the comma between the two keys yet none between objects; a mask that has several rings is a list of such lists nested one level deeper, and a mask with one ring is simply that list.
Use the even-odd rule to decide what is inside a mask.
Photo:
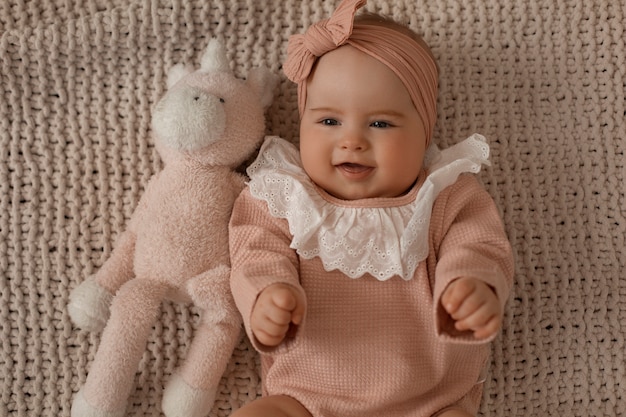
[{"label": "chunky knit beige blanket beneath the baby and plush toy", "polygon": [[[111,253],[160,168],[149,121],[166,70],[224,39],[236,72],[277,73],[322,0],[0,2],[0,416],[68,416],[99,335],[68,294]],[[484,134],[481,179],[517,258],[484,416],[626,415],[626,3],[370,0],[423,33],[441,67],[435,140]],[[297,140],[284,76],[268,133]],[[197,312],[163,305],[128,414],[160,413]],[[233,355],[212,416],[258,395]]]}]

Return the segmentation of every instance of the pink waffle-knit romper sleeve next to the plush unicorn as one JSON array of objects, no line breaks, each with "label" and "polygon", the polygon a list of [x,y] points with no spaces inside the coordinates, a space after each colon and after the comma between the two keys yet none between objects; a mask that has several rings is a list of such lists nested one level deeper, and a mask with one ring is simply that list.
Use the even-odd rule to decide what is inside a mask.
[{"label": "pink waffle-knit romper sleeve next to the plush unicorn", "polygon": [[268,349],[259,344],[252,334],[250,315],[261,291],[269,285],[284,283],[304,294],[298,278],[298,257],[289,247],[290,243],[287,221],[272,217],[267,210],[267,203],[255,199],[245,188],[235,201],[229,224],[230,284],[246,333],[254,348],[261,353],[273,352],[289,345],[289,341],[286,341],[276,348]]}]

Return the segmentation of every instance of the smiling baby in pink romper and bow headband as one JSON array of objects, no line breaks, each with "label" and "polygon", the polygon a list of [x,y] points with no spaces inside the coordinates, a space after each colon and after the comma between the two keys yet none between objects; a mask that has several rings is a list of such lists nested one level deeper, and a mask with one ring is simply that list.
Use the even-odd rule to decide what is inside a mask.
[{"label": "smiling baby in pink romper and bow headband", "polygon": [[474,135],[430,145],[437,66],[344,0],[290,39],[300,149],[268,138],[230,223],[263,396],[232,415],[472,416],[512,284]]}]

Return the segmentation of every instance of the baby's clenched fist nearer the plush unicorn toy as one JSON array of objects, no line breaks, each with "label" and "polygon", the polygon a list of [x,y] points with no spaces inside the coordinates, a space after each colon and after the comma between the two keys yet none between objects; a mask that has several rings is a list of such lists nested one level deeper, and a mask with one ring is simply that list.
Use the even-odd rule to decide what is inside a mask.
[{"label": "baby's clenched fist nearer the plush unicorn toy", "polygon": [[257,299],[250,317],[250,328],[262,345],[278,346],[293,326],[302,322],[304,300],[293,287],[273,284]]}]

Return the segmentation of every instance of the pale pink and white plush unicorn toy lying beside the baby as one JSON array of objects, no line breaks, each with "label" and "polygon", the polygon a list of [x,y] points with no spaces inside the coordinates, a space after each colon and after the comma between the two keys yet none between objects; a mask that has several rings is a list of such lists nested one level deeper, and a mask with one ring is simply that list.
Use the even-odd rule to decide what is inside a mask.
[{"label": "pale pink and white plush unicorn toy lying beside the baby", "polygon": [[102,337],[73,417],[122,417],[139,361],[163,300],[190,302],[200,324],[182,365],[165,385],[168,417],[201,417],[213,406],[221,376],[241,336],[230,294],[228,221],[244,186],[236,167],[264,137],[264,110],[276,77],[252,69],[235,78],[222,44],[212,39],[199,70],[168,72],[153,112],[163,169],[148,183],[111,257],[76,287],[68,312]]}]

